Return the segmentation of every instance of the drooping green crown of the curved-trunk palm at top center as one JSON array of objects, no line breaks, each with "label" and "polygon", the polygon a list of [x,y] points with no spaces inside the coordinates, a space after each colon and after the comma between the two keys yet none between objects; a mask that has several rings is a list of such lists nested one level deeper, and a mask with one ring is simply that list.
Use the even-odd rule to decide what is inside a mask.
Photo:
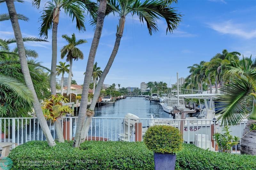
[{"label": "drooping green crown of the curved-trunk palm at top center", "polygon": [[[172,33],[173,30],[177,29],[182,16],[170,7],[172,2],[177,1],[169,0],[164,3],[157,0],[144,2],[140,0],[109,0],[106,15],[117,13],[119,17],[124,18],[128,14],[137,15],[141,23],[146,22],[150,35],[158,31],[157,21],[163,18],[167,24],[166,33]],[[95,24],[95,20],[92,24]]]}]

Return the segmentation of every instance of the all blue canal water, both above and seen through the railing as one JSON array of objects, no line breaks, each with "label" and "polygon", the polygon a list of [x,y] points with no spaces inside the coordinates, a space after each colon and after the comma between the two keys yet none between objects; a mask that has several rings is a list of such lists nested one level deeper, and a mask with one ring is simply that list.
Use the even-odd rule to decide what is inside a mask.
[{"label": "all blue canal water, both above and seen through the railing", "polygon": [[[157,102],[152,101],[150,103],[149,100],[145,100],[143,97],[127,97],[126,99],[117,100],[115,105],[108,103],[100,107],[95,107],[94,117],[97,118],[92,120],[88,136],[105,137],[113,141],[118,140],[118,135],[123,133],[123,119],[115,118],[124,118],[127,113],[137,115],[139,118],[150,118],[150,115],[153,115],[154,118],[169,118],[169,114],[165,113],[162,106]],[[103,117],[113,119],[104,119]],[[64,119],[66,120],[66,118]],[[67,120],[69,120],[68,117]],[[72,119],[72,137],[75,136],[76,121],[77,119]],[[51,124],[49,128],[51,129],[52,136],[56,137],[53,123],[47,122],[49,125]],[[141,120],[141,122],[143,126],[149,123],[148,120]],[[8,125],[7,120],[6,125]],[[25,122],[23,125],[25,126],[21,127],[20,125],[20,128],[15,130],[15,143],[22,144],[30,140],[45,140],[42,129],[37,121],[34,122],[34,119],[31,119],[31,122],[28,120],[27,125]],[[10,127],[10,129],[12,129],[12,127]],[[5,139],[2,138],[2,141],[12,142],[11,137],[12,133]],[[133,138],[134,137],[132,137],[131,140],[133,140]]]}]

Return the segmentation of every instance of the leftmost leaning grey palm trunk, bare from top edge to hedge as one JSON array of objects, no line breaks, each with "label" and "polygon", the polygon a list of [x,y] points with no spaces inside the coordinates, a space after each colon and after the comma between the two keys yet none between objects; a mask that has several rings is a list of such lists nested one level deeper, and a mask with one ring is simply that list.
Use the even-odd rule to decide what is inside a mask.
[{"label": "leftmost leaning grey palm trunk, bare from top edge to hedge", "polygon": [[42,131],[44,133],[44,136],[47,140],[48,145],[49,146],[54,146],[56,144],[55,144],[55,142],[52,138],[51,131],[48,128],[47,122],[44,118],[44,114],[42,112],[41,105],[40,105],[40,103],[38,101],[38,98],[36,96],[36,91],[34,89],[33,82],[31,80],[31,77],[30,77],[30,74],[29,74],[24,43],[23,43],[21,32],[20,32],[20,25],[19,25],[19,22],[18,22],[18,17],[17,17],[17,13],[16,13],[16,10],[15,10],[13,0],[6,0],[5,2],[6,2],[6,5],[7,5],[7,8],[8,8],[9,16],[10,16],[10,19],[11,19],[11,22],[12,22],[12,28],[13,28],[13,31],[14,31],[14,36],[15,36],[16,43],[17,43],[17,48],[18,48],[19,57],[20,57],[21,71],[23,73],[23,76],[24,76],[27,87],[33,93],[33,98],[34,98],[33,107],[34,107],[34,110],[35,110],[35,113],[36,113],[37,120],[40,124],[40,127],[42,128]]}]

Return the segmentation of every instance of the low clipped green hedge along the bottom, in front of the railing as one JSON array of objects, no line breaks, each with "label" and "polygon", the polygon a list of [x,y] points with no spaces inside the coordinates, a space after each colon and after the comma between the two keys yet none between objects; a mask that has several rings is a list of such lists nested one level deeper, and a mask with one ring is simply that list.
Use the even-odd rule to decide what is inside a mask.
[{"label": "low clipped green hedge along the bottom, in front of the railing", "polygon": [[[31,141],[13,149],[8,157],[13,161],[12,169],[154,169],[153,152],[143,142],[85,141],[80,148],[72,144],[49,147],[45,141]],[[28,161],[39,163],[29,165]],[[217,153],[184,144],[177,153],[175,169],[256,169],[256,156]]]}]

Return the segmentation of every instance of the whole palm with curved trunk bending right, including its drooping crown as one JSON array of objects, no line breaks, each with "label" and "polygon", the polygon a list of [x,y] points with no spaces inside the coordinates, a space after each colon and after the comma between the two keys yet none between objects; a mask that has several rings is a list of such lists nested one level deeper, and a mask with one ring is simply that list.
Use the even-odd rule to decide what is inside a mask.
[{"label": "whole palm with curved trunk bending right, including its drooping crown", "polygon": [[[112,50],[112,53],[109,57],[108,63],[103,70],[103,73],[100,77],[100,80],[97,84],[93,99],[92,99],[92,104],[90,106],[90,112],[92,112],[93,115],[93,110],[96,105],[96,102],[98,100],[98,97],[100,95],[100,90],[102,88],[104,79],[106,78],[112,63],[116,57],[118,48],[120,46],[120,41],[123,36],[124,32],[124,25],[125,25],[125,18],[127,15],[131,14],[132,16],[137,15],[140,19],[141,23],[144,23],[144,21],[147,23],[148,27],[148,32],[150,35],[152,35],[153,32],[158,31],[157,28],[157,20],[159,18],[163,18],[166,21],[167,24],[167,29],[166,33],[172,32],[177,28],[179,25],[180,17],[181,15],[177,13],[177,11],[174,8],[170,7],[170,4],[173,1],[158,1],[158,0],[153,0],[149,1],[146,0],[144,2],[140,0],[111,0],[108,1],[108,7],[109,11],[113,13],[117,13],[119,16],[119,25],[117,26],[117,32],[116,32],[116,41],[114,48]],[[177,1],[175,1],[177,2]],[[81,109],[81,108],[80,108]],[[83,137],[82,139],[85,139],[85,136],[87,135],[87,131],[89,130],[89,125],[91,123],[92,116],[87,117],[85,123],[84,123],[84,129],[83,131]],[[82,125],[83,126],[83,125]]]}]

